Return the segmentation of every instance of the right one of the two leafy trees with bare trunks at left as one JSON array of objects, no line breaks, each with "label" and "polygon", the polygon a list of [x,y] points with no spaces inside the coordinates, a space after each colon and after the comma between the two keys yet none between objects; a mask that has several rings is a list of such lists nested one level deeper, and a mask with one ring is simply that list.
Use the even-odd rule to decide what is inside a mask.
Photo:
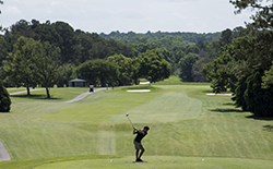
[{"label": "right one of the two leafy trees with bare trunks at left", "polygon": [[36,62],[35,71],[37,81],[45,86],[47,98],[50,98],[49,88],[57,84],[64,74],[62,67],[59,67],[60,48],[51,46],[48,41],[44,43],[41,48],[43,52]]}]

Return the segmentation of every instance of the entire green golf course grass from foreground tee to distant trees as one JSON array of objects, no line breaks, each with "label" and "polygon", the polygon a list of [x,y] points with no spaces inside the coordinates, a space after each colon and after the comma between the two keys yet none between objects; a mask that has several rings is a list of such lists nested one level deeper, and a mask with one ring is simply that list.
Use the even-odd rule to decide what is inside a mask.
[{"label": "entire green golf course grass from foreground tee to distant trees", "polygon": [[[211,92],[207,84],[159,84],[150,93],[127,89],[130,87],[100,90],[72,104],[62,101],[68,100],[62,89],[62,99],[58,99],[58,89],[54,92],[56,100],[15,98],[11,113],[0,113],[0,140],[19,164],[56,158],[56,162],[41,160],[35,169],[273,165],[273,131],[269,128],[273,121],[247,118],[251,113],[235,108],[229,96],[206,96]],[[132,164],[134,135],[126,113],[136,128],[151,128],[143,140],[143,160],[147,162]],[[90,155],[109,156],[69,158]],[[112,155],[120,157],[110,162]],[[59,157],[64,159],[59,161]],[[0,162],[0,168],[1,164],[12,167],[14,162]]]}]

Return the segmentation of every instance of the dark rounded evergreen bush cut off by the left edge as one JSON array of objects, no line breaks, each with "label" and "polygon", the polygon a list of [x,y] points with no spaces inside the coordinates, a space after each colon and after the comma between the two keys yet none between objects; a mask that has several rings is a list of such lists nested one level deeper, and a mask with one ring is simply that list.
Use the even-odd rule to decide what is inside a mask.
[{"label": "dark rounded evergreen bush cut off by the left edge", "polygon": [[2,81],[0,80],[0,112],[9,112],[11,109],[10,94],[4,88]]}]

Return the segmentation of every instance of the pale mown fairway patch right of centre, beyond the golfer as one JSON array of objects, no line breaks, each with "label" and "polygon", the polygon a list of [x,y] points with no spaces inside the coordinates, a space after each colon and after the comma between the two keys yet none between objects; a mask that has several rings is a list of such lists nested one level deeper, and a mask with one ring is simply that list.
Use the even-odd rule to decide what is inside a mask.
[{"label": "pale mown fairway patch right of centre, beyond the golfer", "polygon": [[[199,118],[202,113],[200,100],[188,97],[185,93],[164,93],[147,102],[128,111],[134,123],[167,123]],[[116,120],[115,120],[116,119]],[[115,122],[122,119],[114,117]]]}]

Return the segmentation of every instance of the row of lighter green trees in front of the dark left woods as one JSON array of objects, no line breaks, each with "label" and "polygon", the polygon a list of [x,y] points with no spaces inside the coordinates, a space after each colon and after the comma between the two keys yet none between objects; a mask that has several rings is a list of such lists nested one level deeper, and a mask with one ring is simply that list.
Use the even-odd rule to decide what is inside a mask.
[{"label": "row of lighter green trees in front of the dark left woods", "polygon": [[21,36],[12,52],[3,60],[4,82],[29,88],[41,84],[50,98],[49,88],[69,77],[82,77],[93,85],[105,86],[138,84],[140,77],[151,76],[151,82],[162,81],[170,75],[170,65],[156,49],[147,50],[135,58],[123,55],[109,56],[107,59],[92,59],[71,69],[71,64],[60,64],[60,48],[48,41],[41,43]]}]

